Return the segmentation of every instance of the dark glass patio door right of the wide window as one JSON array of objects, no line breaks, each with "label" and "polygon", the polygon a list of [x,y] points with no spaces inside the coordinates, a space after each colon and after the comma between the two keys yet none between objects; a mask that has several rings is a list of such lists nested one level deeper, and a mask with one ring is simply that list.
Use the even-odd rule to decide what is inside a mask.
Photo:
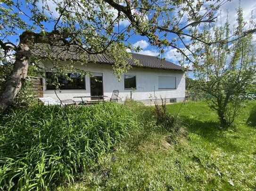
[{"label": "dark glass patio door right of the wide window", "polygon": [[103,74],[92,73],[90,77],[91,84],[91,96],[99,96],[91,99],[103,99]]}]

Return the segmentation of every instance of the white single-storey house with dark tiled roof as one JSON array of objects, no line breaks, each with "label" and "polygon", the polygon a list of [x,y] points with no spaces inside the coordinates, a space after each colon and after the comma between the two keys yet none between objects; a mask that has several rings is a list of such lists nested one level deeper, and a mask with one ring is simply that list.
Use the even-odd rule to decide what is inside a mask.
[{"label": "white single-storey house with dark tiled roof", "polygon": [[[33,49],[32,53],[33,56],[41,58],[46,55],[44,49],[42,51],[40,48]],[[48,53],[50,53],[51,58],[58,56],[58,58],[63,57],[65,61],[78,60],[77,54],[59,48],[55,48]],[[69,73],[69,77],[73,78],[71,82],[60,76],[58,80],[64,85],[60,87],[61,91],[58,91],[58,96],[60,99],[80,101],[81,99],[74,97],[102,95],[111,97],[112,92],[118,90],[119,102],[132,98],[145,104],[153,104],[154,96],[158,99],[165,99],[167,103],[183,101],[185,97],[185,73],[181,66],[160,60],[154,56],[137,53],[132,53],[132,58],[139,60],[140,66],[135,66],[134,60],[129,60],[128,63],[133,67],[122,75],[121,81],[118,81],[113,74],[113,61],[106,56],[96,55],[94,56],[96,62],[87,63],[86,65],[77,64],[75,68],[90,71],[94,77],[85,76],[83,80],[79,80],[78,73]],[[48,80],[52,75],[53,61],[49,59],[41,61],[45,69],[42,91],[43,97],[57,99],[54,92],[56,88]]]}]

